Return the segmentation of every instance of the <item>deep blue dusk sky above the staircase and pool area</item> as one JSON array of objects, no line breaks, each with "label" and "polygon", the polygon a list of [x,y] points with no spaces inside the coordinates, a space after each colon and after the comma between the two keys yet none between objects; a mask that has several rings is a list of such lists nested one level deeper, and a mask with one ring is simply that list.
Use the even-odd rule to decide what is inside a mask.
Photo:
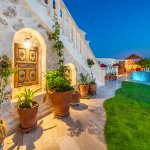
[{"label": "deep blue dusk sky above the staircase and pool area", "polygon": [[96,57],[150,58],[150,0],[64,0]]}]

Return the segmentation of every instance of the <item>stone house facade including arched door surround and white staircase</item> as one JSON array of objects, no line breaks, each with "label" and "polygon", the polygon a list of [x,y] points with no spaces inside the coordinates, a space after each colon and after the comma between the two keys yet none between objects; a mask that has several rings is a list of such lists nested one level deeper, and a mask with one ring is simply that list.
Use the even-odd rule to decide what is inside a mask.
[{"label": "stone house facade including arched door surround and white staircase", "polygon": [[[55,2],[55,3],[54,3]],[[56,5],[54,8],[53,5]],[[6,89],[8,93],[7,100],[3,103],[2,117],[6,120],[9,133],[19,124],[17,116],[17,94],[25,87],[31,89],[42,88],[36,96],[40,104],[38,118],[52,111],[51,102],[46,101],[44,90],[44,74],[57,68],[57,55],[52,48],[52,41],[47,33],[53,31],[53,14],[56,13],[61,25],[61,39],[65,45],[64,58],[65,64],[70,66],[72,71],[72,81],[76,84],[81,72],[90,73],[86,64],[87,58],[95,61],[93,68],[98,86],[104,84],[103,70],[97,64],[95,56],[90,50],[88,42],[85,40],[85,33],[75,24],[73,18],[61,0],[2,0],[0,1],[0,55],[6,54],[13,60],[13,65],[18,65],[15,55],[18,50],[15,44],[24,45],[29,40],[32,47],[38,49],[38,60],[36,75],[38,83],[28,86],[15,87],[16,78],[13,75],[10,78]],[[73,35],[71,35],[74,33]],[[20,48],[21,49],[21,48]],[[23,58],[23,49],[19,49],[20,59]],[[31,54],[32,56],[32,54]],[[34,57],[34,54],[33,54]],[[35,70],[31,70],[31,76],[34,78]],[[30,73],[31,73],[30,72]],[[23,71],[20,76],[23,76]],[[21,79],[23,80],[23,79]]]}]

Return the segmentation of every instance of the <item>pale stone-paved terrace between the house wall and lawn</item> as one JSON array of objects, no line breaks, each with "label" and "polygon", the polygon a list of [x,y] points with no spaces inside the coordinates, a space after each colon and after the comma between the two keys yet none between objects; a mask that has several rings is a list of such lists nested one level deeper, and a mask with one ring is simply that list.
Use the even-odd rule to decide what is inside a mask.
[{"label": "pale stone-paved terrace between the house wall and lawn", "polygon": [[38,121],[32,132],[8,136],[4,150],[106,150],[104,126],[105,99],[114,95],[121,81],[111,81],[98,89],[97,96],[81,100],[69,117],[58,120],[53,113]]}]

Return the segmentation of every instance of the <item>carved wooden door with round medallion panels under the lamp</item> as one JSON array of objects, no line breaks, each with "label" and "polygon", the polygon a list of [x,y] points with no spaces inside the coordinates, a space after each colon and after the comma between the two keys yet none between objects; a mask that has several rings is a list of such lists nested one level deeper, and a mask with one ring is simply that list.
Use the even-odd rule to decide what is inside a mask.
[{"label": "carved wooden door with round medallion panels under the lamp", "polygon": [[38,48],[24,48],[22,44],[15,44],[14,63],[18,68],[15,73],[15,87],[38,84]]}]

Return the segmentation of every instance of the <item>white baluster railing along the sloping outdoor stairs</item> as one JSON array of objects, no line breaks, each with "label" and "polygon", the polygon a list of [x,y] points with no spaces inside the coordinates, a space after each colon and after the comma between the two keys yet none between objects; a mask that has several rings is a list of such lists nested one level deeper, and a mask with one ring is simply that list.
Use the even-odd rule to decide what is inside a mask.
[{"label": "white baluster railing along the sloping outdoor stairs", "polygon": [[[32,7],[34,7],[35,2],[33,0],[27,1],[31,3]],[[35,0],[35,1],[37,1],[39,4],[42,4],[46,8],[47,15],[50,16],[51,18],[53,18],[54,13],[57,15],[58,22],[60,23],[61,26],[61,35],[64,44],[69,45],[68,49],[69,50],[72,49],[70,51],[76,55],[77,59],[80,60],[80,63],[82,64],[82,66],[84,66],[84,68],[86,68],[86,70],[88,70],[88,72],[90,72],[90,70],[88,69],[86,61],[88,58],[93,59],[95,62],[95,65],[93,67],[93,74],[97,77],[98,80],[101,80],[103,82],[102,70],[93,52],[90,49],[89,42],[85,40],[86,33],[83,32],[81,29],[79,29],[70,12],[66,8],[63,0]],[[41,12],[38,12],[39,14],[44,13],[42,12],[42,10],[40,11]],[[41,17],[44,18],[45,16],[43,17],[43,14],[41,14]],[[48,20],[45,18],[45,22],[51,24],[52,27],[52,21],[48,22]]]}]

